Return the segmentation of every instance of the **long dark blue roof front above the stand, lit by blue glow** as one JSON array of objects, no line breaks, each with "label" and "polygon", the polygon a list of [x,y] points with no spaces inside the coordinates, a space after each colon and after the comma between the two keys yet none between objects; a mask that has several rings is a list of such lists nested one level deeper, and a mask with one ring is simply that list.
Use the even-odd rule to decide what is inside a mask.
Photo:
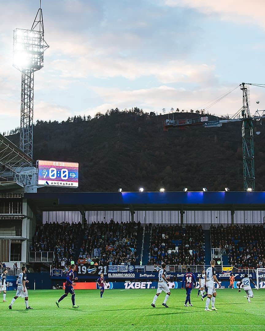
[{"label": "long dark blue roof front above the stand, lit by blue glow", "polygon": [[265,192],[25,193],[33,211],[265,210]]}]

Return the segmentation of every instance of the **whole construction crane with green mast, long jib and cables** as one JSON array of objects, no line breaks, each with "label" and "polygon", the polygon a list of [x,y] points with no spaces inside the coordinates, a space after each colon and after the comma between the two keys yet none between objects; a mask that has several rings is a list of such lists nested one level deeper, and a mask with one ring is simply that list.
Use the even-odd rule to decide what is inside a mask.
[{"label": "whole construction crane with green mast, long jib and cables", "polygon": [[198,118],[185,118],[185,119],[166,119],[164,121],[164,131],[169,128],[183,128],[187,126],[203,125],[204,127],[221,127],[223,123],[229,122],[242,122],[242,148],[243,148],[243,178],[244,178],[244,191],[255,191],[255,165],[254,165],[254,139],[253,139],[253,121],[262,123],[262,118],[265,118],[265,110],[256,111],[254,115],[250,114],[249,110],[249,85],[265,87],[265,84],[251,84],[241,83],[232,90],[223,94],[219,98],[213,100],[209,108],[232,93],[238,87],[243,94],[242,107],[239,111],[230,116],[211,116],[201,115]]}]

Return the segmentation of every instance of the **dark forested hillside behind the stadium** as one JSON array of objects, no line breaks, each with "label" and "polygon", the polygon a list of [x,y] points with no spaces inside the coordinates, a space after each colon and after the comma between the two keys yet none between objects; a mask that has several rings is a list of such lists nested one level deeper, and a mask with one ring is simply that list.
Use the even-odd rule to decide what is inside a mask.
[{"label": "dark forested hillside behind the stadium", "polygon": [[[173,117],[172,114],[169,115]],[[174,118],[198,117],[175,113]],[[163,131],[168,115],[151,116],[138,108],[111,110],[91,119],[62,123],[37,121],[35,160],[79,162],[79,191],[198,191],[243,190],[241,122],[223,127],[202,126]],[[265,131],[255,131],[256,190],[265,189]],[[8,137],[19,144],[19,135]],[[46,189],[46,188],[45,188]],[[48,189],[48,188],[47,188]],[[47,190],[46,189],[46,190]],[[44,190],[44,189],[41,189]],[[50,191],[69,190],[49,188]]]}]

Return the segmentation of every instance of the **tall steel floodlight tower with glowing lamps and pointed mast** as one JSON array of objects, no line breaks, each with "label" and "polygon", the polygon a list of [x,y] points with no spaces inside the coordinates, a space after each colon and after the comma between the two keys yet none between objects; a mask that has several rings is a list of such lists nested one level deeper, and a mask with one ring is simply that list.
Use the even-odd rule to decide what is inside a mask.
[{"label": "tall steel floodlight tower with glowing lamps and pointed mast", "polygon": [[32,158],[33,148],[33,84],[34,71],[43,67],[44,40],[41,1],[30,30],[15,29],[13,67],[21,71],[20,149]]}]

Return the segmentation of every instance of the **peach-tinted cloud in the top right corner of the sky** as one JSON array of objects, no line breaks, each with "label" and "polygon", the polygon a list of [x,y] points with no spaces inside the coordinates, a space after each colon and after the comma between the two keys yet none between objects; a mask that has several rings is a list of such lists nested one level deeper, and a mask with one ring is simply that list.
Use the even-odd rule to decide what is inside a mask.
[{"label": "peach-tinted cloud in the top right corner of the sky", "polygon": [[207,15],[216,13],[223,19],[241,24],[247,20],[265,27],[265,6],[262,0],[253,0],[251,3],[246,0],[164,0],[164,3],[171,7],[195,8]]}]

